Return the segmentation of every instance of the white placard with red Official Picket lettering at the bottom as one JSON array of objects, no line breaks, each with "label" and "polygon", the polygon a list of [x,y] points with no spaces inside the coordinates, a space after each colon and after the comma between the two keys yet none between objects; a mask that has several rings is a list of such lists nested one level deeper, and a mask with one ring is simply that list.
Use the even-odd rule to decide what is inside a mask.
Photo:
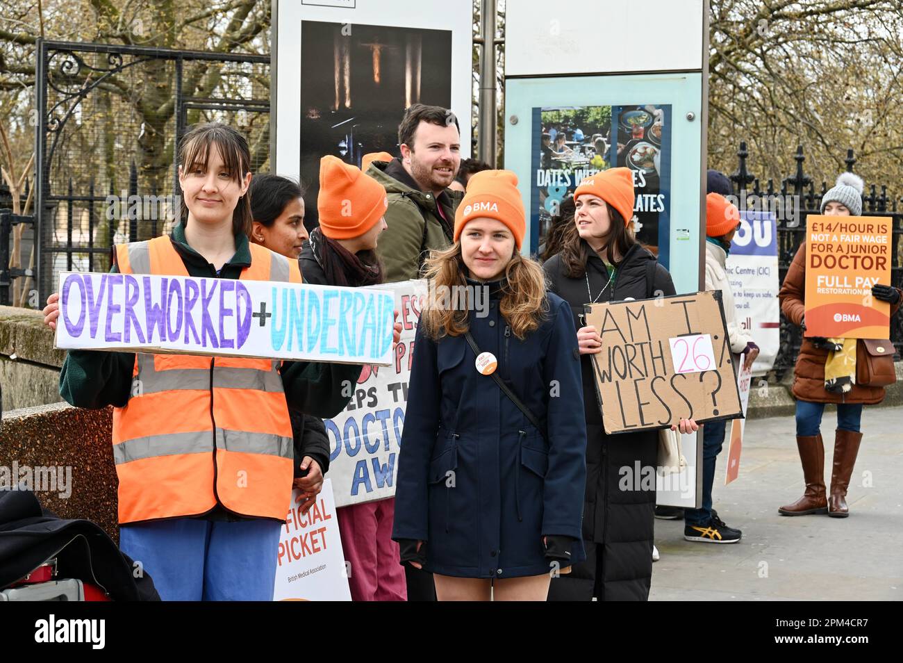
[{"label": "white placard with red Official Picket lettering at the bottom", "polygon": [[292,508],[280,530],[273,600],[350,601],[332,481],[323,481],[307,513],[301,512],[300,495],[301,490],[292,491]]}]

